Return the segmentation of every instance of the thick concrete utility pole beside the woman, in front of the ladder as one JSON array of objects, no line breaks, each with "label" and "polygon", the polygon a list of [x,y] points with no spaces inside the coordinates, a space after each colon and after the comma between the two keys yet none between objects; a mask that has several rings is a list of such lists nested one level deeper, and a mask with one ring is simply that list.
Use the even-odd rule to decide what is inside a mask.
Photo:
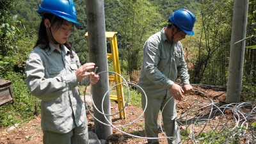
[{"label": "thick concrete utility pole beside the woman, in front of the ladder", "polygon": [[[90,62],[95,63],[95,67],[99,67],[96,73],[108,71],[104,1],[86,0],[86,16]],[[102,111],[102,99],[108,90],[108,73],[100,74],[98,83],[92,85],[93,101],[100,111]],[[109,93],[104,99],[103,109],[104,113],[110,114]],[[93,115],[101,122],[109,124],[104,115],[101,115],[95,108],[93,108]],[[111,122],[111,116],[107,116],[107,118]],[[94,120],[94,128],[99,139],[106,140],[112,134],[112,127],[100,124],[97,120]]]}]

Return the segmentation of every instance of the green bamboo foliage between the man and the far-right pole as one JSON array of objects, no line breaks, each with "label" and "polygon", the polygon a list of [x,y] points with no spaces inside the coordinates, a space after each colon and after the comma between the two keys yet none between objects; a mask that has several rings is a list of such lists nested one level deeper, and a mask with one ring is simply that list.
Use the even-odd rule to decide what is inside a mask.
[{"label": "green bamboo foliage between the man and the far-right pole", "polygon": [[194,42],[189,44],[187,53],[191,57],[191,83],[227,84],[232,8],[230,0],[203,0],[200,4]]}]

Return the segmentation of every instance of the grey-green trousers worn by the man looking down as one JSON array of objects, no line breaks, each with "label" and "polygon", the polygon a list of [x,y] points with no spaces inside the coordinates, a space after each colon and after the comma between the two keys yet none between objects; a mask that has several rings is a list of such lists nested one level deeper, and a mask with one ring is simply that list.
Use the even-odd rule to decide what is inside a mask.
[{"label": "grey-green trousers worn by the man looking down", "polygon": [[[148,103],[147,108],[144,113],[145,115],[145,131],[148,138],[158,138],[158,129],[157,129],[157,118],[159,114],[159,110],[162,111],[164,105],[168,101],[165,97],[152,99],[150,97],[147,97]],[[142,108],[145,109],[145,96],[141,93],[141,102],[142,102]],[[164,131],[166,132],[166,136],[175,137],[175,140],[169,140],[169,144],[178,144],[181,143],[180,138],[180,131],[179,131],[179,125],[175,121],[177,118],[177,113],[175,109],[175,99],[172,98],[168,104],[163,109],[163,122],[164,124]],[[150,140],[148,139],[148,143],[159,143],[157,139]]]}]

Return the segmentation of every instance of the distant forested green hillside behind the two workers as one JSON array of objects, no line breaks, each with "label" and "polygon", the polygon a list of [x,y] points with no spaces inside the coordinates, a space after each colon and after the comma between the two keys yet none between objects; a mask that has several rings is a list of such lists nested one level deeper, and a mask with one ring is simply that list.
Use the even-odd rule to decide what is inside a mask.
[{"label": "distant forested green hillside behind the two workers", "polygon": [[[127,0],[106,0],[104,1],[104,11],[105,11],[105,23],[106,23],[106,31],[115,31],[118,32],[118,47],[119,49],[124,49],[127,44],[131,44],[131,38],[127,38],[127,36],[131,35],[131,29],[127,29],[128,31],[124,31],[125,24],[129,24],[126,22],[127,19],[132,19],[132,13],[129,11],[129,6],[135,6],[138,4],[137,8],[143,8],[141,3],[146,2],[145,0],[134,1],[134,4],[129,5],[129,1]],[[38,5],[41,3],[41,0],[17,0],[17,6],[14,10],[12,10],[13,15],[17,15],[17,19],[20,20],[29,35],[36,35],[38,31],[38,26],[40,24],[40,16],[36,13],[38,10]],[[81,63],[89,62],[88,58],[88,47],[87,40],[84,34],[87,31],[86,25],[86,4],[84,0],[74,0],[77,9],[77,21],[81,24],[81,26],[75,26],[72,35],[70,35],[70,40],[74,42],[74,51],[78,54]],[[124,4],[124,5],[122,5]],[[161,1],[148,1],[147,6],[154,10],[154,13],[158,13],[159,17],[157,19],[152,19],[154,21],[150,22],[151,24],[156,25],[156,29],[153,31],[147,31],[145,33],[145,38],[141,41],[141,45],[144,44],[145,40],[149,35],[161,30],[163,26],[166,25],[168,17],[172,15],[172,13],[179,8],[187,8],[191,10],[191,12],[196,12],[198,10],[198,3],[196,1],[191,0],[161,0]],[[130,7],[131,8],[131,7]],[[141,10],[138,9],[138,12]],[[126,13],[128,12],[128,13]],[[129,15],[127,15],[129,14]],[[132,15],[131,15],[132,14]],[[139,15],[140,13],[134,13],[134,15]],[[142,17],[143,19],[148,19],[146,17]],[[159,26],[161,24],[161,26]],[[127,26],[126,26],[127,27]],[[148,29],[148,28],[147,28]],[[126,37],[125,37],[126,36]],[[127,38],[126,40],[124,40]],[[125,45],[124,45],[124,41]],[[108,43],[108,52],[111,52],[110,45]],[[124,59],[124,58],[121,58]]]}]

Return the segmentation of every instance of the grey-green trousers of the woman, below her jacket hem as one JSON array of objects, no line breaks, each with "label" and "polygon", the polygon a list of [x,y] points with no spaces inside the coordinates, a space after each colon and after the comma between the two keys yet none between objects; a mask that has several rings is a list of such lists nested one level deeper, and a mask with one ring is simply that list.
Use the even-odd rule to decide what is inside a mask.
[{"label": "grey-green trousers of the woman, below her jacket hem", "polygon": [[85,117],[83,124],[75,127],[70,132],[60,134],[51,131],[43,131],[44,144],[88,144],[88,121]]}]

